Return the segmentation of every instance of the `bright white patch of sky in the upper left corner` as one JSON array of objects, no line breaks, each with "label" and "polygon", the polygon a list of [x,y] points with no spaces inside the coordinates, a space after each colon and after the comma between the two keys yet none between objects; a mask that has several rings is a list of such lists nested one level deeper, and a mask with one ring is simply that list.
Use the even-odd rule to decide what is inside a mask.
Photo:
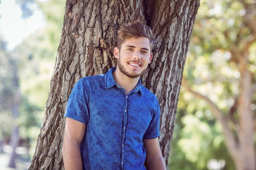
[{"label": "bright white patch of sky in the upper left corner", "polygon": [[7,50],[14,50],[37,28],[46,26],[44,16],[36,4],[28,3],[29,8],[33,10],[33,15],[23,19],[20,6],[15,3],[15,0],[0,0],[0,2],[0,34],[3,40],[8,42]]}]

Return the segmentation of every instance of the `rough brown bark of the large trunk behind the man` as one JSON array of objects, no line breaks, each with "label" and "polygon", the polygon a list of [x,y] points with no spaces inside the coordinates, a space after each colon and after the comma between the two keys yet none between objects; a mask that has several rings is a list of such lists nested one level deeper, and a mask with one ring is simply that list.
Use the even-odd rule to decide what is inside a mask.
[{"label": "rough brown bark of the large trunk behind the man", "polygon": [[152,28],[154,57],[143,75],[161,108],[160,146],[168,162],[183,66],[199,0],[67,0],[44,120],[30,170],[63,169],[67,99],[76,81],[116,65],[117,29],[140,19]]}]

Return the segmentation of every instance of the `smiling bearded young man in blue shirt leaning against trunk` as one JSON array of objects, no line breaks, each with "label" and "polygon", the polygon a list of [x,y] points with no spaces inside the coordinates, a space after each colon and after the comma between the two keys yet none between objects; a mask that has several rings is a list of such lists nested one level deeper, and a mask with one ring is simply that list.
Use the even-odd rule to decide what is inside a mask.
[{"label": "smiling bearded young man in blue shirt leaning against trunk", "polygon": [[68,99],[66,170],[166,170],[159,103],[140,81],[153,57],[152,31],[134,21],[117,34],[117,67],[79,79]]}]

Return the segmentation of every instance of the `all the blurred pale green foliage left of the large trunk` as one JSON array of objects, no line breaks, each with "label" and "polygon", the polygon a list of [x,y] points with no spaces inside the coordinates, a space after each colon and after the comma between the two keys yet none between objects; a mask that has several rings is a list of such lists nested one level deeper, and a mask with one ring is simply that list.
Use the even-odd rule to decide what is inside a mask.
[{"label": "all the blurred pale green foliage left of the large trunk", "polygon": [[[6,52],[5,48],[0,50],[0,94],[5,96],[3,101],[1,97],[0,116],[6,117],[3,123],[0,122],[0,139],[10,135],[14,121],[10,105],[13,101],[12,93],[15,91],[12,83],[15,68],[19,78],[17,88],[22,95],[19,117],[15,122],[19,125],[20,136],[32,139],[30,142],[32,147],[35,147],[60,41],[65,2],[65,0],[36,1],[46,18],[46,28],[38,29],[23,40],[12,53]],[[17,0],[16,3],[22,7],[26,3],[35,3],[35,1]],[[0,46],[5,46],[1,39]],[[16,65],[13,65],[10,59],[13,59]]]}]

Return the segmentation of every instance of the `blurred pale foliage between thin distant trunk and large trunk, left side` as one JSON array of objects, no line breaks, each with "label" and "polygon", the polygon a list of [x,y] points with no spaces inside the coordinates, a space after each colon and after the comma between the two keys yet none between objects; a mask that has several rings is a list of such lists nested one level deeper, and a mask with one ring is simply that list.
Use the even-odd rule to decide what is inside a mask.
[{"label": "blurred pale foliage between thin distant trunk and large trunk, left side", "polygon": [[20,135],[34,141],[44,116],[64,18],[64,0],[37,3],[47,26],[24,40],[14,52],[23,59],[19,72],[20,91],[24,96],[18,119]]}]

